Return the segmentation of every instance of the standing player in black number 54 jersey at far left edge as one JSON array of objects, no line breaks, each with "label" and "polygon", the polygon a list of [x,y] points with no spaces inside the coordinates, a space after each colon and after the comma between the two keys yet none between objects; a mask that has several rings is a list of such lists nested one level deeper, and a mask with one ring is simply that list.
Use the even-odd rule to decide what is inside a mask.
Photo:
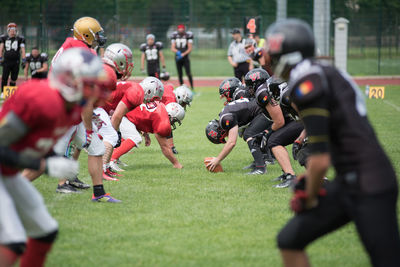
[{"label": "standing player in black number 54 jersey at far left edge", "polygon": [[1,93],[3,87],[8,85],[11,73],[10,86],[15,86],[18,79],[19,62],[26,62],[25,38],[18,35],[17,24],[10,22],[7,25],[7,34],[0,36],[0,66],[3,66],[1,75]]}]

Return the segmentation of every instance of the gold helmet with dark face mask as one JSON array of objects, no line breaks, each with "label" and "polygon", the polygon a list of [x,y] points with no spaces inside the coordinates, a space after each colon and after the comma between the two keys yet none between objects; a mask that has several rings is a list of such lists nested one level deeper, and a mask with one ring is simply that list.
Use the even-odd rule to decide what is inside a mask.
[{"label": "gold helmet with dark face mask", "polygon": [[103,47],[107,41],[100,23],[91,17],[82,17],[75,21],[72,31],[76,39],[84,41],[91,47],[97,45]]}]

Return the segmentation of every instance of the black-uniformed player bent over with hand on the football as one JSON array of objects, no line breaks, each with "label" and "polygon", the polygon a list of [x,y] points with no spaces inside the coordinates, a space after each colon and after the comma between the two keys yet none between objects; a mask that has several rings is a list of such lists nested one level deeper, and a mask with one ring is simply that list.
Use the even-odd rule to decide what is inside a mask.
[{"label": "black-uniformed player bent over with hand on the football", "polygon": [[[219,114],[219,120],[211,121],[206,127],[206,135],[211,142],[225,143],[222,151],[208,163],[207,167],[210,168],[210,171],[214,170],[229,155],[236,145],[239,128],[246,127],[243,139],[247,142],[255,162],[253,170],[248,174],[264,174],[266,172],[265,161],[260,148],[260,138],[257,136],[268,129],[271,124],[271,116],[264,114],[255,100],[243,98],[228,103]],[[226,136],[228,136],[227,142],[224,139]]]}]

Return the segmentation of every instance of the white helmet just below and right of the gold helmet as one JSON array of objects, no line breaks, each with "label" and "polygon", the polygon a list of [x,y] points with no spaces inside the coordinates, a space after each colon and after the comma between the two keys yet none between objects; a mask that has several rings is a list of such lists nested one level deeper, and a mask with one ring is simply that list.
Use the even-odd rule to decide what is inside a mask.
[{"label": "white helmet just below and right of the gold helmet", "polygon": [[103,61],[115,68],[118,79],[126,80],[131,76],[133,70],[132,50],[126,45],[115,43],[107,46]]}]

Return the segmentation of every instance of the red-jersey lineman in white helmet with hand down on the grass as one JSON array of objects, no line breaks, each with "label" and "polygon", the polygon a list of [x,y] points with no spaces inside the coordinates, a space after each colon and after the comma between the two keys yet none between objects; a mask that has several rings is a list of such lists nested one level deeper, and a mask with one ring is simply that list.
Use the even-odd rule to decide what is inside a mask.
[{"label": "red-jersey lineman in white helmet with hand down on the grass", "polygon": [[158,101],[148,102],[128,112],[124,119],[129,123],[121,124],[121,134],[125,140],[119,148],[115,149],[113,160],[118,159],[142,142],[139,132],[147,134],[145,135],[146,146],[151,143],[148,134],[154,133],[164,156],[174,168],[182,169],[182,164],[179,163],[169,146],[168,136],[171,135],[171,127],[175,129],[175,123],[180,125],[184,117],[185,110],[175,102],[169,103],[167,106]]}]

